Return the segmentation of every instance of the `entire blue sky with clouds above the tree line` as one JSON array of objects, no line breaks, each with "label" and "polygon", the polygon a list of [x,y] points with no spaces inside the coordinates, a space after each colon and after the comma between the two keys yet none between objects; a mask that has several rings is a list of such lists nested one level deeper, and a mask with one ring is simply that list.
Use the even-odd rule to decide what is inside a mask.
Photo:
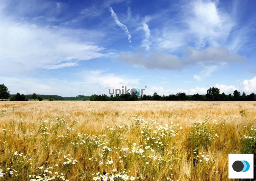
[{"label": "entire blue sky with clouds above the tree line", "polygon": [[256,92],[256,1],[0,2],[12,94]]}]

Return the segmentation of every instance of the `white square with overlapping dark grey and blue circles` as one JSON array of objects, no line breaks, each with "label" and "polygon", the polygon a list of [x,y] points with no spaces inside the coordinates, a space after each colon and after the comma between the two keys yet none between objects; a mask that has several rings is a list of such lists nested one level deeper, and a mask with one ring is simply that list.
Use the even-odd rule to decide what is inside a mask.
[{"label": "white square with overlapping dark grey and blue circles", "polygon": [[253,178],[253,154],[228,154],[228,178]]}]

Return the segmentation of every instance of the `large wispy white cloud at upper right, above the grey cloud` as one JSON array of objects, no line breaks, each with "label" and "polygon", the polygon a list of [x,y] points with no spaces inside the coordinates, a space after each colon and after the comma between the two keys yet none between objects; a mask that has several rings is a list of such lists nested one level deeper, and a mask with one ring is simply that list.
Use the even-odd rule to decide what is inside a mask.
[{"label": "large wispy white cloud at upper right, above the grey cloud", "polygon": [[166,20],[162,36],[156,38],[158,47],[173,52],[188,44],[197,49],[225,46],[237,22],[218,6],[218,1],[208,0],[186,1],[180,5],[179,14]]}]

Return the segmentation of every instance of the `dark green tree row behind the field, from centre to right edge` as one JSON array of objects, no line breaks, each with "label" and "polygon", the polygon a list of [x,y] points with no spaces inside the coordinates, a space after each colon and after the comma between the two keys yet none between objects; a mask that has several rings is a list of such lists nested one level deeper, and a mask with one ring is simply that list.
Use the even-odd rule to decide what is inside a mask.
[{"label": "dark green tree row behind the field, from centre to right edge", "polygon": [[216,87],[211,87],[207,90],[205,95],[194,94],[186,95],[185,92],[179,92],[177,94],[170,95],[158,95],[156,92],[153,95],[136,95],[132,94],[116,94],[107,96],[106,94],[90,96],[90,101],[256,101],[256,95],[252,92],[246,95],[234,90],[233,94],[220,94],[220,90]]}]

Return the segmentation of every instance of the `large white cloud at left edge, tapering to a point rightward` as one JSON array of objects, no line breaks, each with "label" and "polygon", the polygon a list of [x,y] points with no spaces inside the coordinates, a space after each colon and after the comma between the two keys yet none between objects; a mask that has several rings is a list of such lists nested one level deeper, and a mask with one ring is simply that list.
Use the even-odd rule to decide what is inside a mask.
[{"label": "large white cloud at left edge, tapering to a point rightward", "polygon": [[[103,47],[83,41],[83,30],[72,30],[60,27],[43,27],[26,21],[6,17],[0,12],[0,73],[33,70],[59,64],[68,60],[90,60],[106,57],[112,53]],[[86,31],[84,31],[86,33]],[[70,63],[61,64],[70,66]],[[72,66],[75,66],[73,63]]]}]

